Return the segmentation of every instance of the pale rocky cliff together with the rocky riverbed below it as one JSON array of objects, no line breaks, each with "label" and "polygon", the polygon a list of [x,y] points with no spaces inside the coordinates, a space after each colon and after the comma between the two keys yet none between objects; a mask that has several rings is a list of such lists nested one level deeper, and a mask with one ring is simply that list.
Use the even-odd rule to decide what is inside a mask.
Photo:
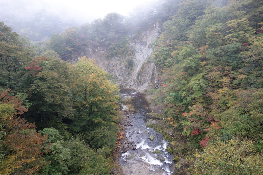
[{"label": "pale rocky cliff together with the rocky riverbed below it", "polygon": [[[169,142],[163,135],[146,127],[148,102],[140,93],[145,89],[154,88],[158,84],[156,66],[151,59],[153,52],[151,42],[158,37],[160,28],[157,24],[148,30],[130,37],[130,49],[134,53],[126,58],[106,58],[107,48],[86,48],[82,56],[93,58],[98,65],[110,74],[114,74],[115,82],[123,87],[121,94],[124,104],[123,126],[124,138],[118,147],[119,169],[114,174],[119,175],[168,175],[173,173],[173,155],[168,153]],[[133,62],[127,67],[127,60]],[[129,89],[125,89],[129,88]],[[137,92],[135,92],[135,91]],[[128,100],[128,101],[127,101]],[[149,112],[149,111],[148,111]],[[151,140],[150,137],[153,137]]]}]

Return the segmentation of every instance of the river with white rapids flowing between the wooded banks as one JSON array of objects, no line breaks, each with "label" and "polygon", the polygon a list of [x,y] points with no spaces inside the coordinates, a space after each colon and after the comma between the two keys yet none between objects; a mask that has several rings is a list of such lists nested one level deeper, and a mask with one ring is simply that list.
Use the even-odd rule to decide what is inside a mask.
[{"label": "river with white rapids flowing between the wooded banks", "polygon": [[[169,142],[163,135],[146,127],[149,118],[147,113],[148,102],[144,96],[131,89],[122,89],[121,95],[126,102],[124,110],[132,110],[134,114],[127,115],[130,126],[126,130],[126,138],[129,143],[133,143],[133,148],[128,149],[119,158],[122,173],[125,175],[169,175],[173,173],[173,155],[166,151]],[[154,140],[150,140],[150,136]],[[152,153],[156,151],[156,153]]]}]

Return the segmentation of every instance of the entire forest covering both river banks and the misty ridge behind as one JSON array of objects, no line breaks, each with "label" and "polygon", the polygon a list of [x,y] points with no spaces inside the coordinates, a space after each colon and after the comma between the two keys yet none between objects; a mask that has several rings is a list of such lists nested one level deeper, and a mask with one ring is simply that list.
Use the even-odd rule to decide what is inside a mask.
[{"label": "entire forest covering both river banks and the misty ridge behind", "polygon": [[132,69],[130,41],[153,24],[159,83],[145,94],[172,131],[174,174],[262,174],[260,0],[158,1],[31,42],[0,22],[0,174],[112,174],[118,86],[77,55],[104,47]]}]

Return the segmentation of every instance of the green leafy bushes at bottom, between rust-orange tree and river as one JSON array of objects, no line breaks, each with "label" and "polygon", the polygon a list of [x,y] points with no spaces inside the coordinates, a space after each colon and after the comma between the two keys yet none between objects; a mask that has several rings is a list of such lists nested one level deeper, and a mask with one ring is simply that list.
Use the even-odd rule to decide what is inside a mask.
[{"label": "green leafy bushes at bottom, between rust-orange tree and river", "polygon": [[[83,141],[81,135],[65,140],[59,135],[58,130],[52,127],[39,132],[48,136],[48,142],[45,143],[44,149],[49,152],[44,157],[47,161],[50,161],[50,164],[43,167],[39,174],[110,174],[110,168],[112,168],[110,159],[105,158],[103,155],[106,150],[101,149],[98,152],[92,150]],[[111,135],[108,136],[108,139],[112,139]]]}]

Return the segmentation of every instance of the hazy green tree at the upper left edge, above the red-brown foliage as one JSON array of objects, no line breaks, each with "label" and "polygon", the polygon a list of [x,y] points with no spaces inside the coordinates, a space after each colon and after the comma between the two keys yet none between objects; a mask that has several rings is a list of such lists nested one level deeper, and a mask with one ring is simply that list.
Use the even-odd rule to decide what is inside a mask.
[{"label": "hazy green tree at the upper left edge, above the red-brown foliage", "polygon": [[0,86],[15,89],[20,86],[23,64],[31,60],[32,51],[25,47],[28,41],[0,22]]}]

